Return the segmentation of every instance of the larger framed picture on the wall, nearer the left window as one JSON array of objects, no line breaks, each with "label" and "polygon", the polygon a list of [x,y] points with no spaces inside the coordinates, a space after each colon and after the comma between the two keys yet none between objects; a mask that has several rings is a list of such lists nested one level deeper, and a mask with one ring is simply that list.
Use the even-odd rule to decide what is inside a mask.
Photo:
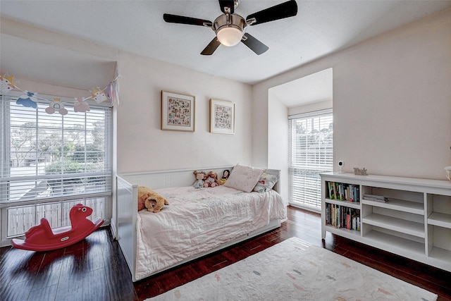
[{"label": "larger framed picture on the wall, nearer the left window", "polygon": [[161,130],[194,132],[194,102],[194,96],[161,91]]}]

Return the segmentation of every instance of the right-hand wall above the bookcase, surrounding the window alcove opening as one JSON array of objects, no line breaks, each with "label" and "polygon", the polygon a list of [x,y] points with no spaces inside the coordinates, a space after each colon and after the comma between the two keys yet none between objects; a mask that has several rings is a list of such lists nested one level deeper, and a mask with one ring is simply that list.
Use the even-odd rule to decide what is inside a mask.
[{"label": "right-hand wall above the bookcase, surrounding the window alcove opening", "polygon": [[[451,9],[397,28],[253,87],[254,126],[268,116],[268,89],[333,68],[334,166],[371,174],[445,179],[451,164]],[[264,113],[266,112],[266,117]],[[270,113],[271,114],[271,113]],[[265,118],[262,118],[263,117]],[[254,164],[280,143],[264,126]],[[337,168],[338,169],[338,168]]]}]

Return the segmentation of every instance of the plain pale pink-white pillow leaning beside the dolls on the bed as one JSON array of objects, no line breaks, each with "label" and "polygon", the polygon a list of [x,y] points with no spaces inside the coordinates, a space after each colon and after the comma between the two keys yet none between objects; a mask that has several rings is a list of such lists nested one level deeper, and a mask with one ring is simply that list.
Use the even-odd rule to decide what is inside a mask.
[{"label": "plain pale pink-white pillow leaning beside the dolls on the bed", "polygon": [[224,183],[224,186],[244,192],[251,192],[265,171],[265,169],[237,164],[230,173],[226,183]]}]

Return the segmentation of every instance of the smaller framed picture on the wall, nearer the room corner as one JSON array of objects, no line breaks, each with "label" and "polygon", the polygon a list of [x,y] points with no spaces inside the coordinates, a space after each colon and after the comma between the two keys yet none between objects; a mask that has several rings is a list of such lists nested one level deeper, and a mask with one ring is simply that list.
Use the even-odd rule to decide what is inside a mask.
[{"label": "smaller framed picture on the wall, nearer the room corner", "polygon": [[235,104],[210,99],[210,133],[235,134]]}]

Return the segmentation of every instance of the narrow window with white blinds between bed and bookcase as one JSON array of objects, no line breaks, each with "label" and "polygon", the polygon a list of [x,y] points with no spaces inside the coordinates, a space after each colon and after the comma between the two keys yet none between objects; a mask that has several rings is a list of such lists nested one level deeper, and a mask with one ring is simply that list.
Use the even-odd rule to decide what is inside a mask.
[{"label": "narrow window with white blinds between bed and bookcase", "polygon": [[320,173],[333,170],[332,110],[289,117],[290,204],[321,210]]}]

